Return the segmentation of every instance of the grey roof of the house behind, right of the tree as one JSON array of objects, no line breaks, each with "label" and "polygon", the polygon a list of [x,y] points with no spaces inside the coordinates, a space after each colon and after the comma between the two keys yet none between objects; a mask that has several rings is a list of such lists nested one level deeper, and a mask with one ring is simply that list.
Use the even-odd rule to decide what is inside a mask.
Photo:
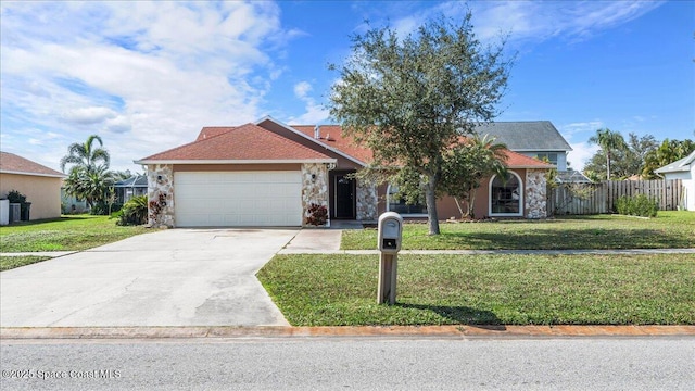
[{"label": "grey roof of the house behind, right of the tree", "polygon": [[480,136],[496,137],[511,151],[571,151],[563,135],[549,121],[494,122],[476,127]]}]

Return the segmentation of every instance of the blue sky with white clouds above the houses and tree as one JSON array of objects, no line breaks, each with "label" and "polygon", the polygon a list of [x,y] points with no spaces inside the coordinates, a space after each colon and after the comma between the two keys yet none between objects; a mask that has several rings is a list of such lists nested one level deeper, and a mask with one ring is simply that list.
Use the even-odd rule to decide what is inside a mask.
[{"label": "blue sky with white clouds above the houses and tree", "polygon": [[581,168],[599,127],[695,137],[693,1],[260,1],[0,3],[0,149],[59,168],[98,134],[112,168],[270,115],[331,123],[325,108],[365,21],[406,35],[462,17],[516,53],[497,121],[548,119]]}]

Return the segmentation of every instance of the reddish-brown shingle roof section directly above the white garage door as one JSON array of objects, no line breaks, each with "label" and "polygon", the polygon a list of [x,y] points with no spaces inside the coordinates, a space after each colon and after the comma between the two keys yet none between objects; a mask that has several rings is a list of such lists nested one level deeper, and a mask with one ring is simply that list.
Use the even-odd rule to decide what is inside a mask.
[{"label": "reddish-brown shingle roof section directly above the white garage door", "polygon": [[[206,129],[214,129],[206,131]],[[164,151],[148,161],[314,161],[331,157],[254,124],[203,128],[198,140]]]}]

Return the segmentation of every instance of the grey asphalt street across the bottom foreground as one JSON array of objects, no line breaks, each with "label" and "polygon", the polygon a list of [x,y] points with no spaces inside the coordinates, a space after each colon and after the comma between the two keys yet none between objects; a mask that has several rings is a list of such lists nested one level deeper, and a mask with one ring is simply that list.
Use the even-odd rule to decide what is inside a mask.
[{"label": "grey asphalt street across the bottom foreground", "polygon": [[1,357],[2,390],[693,390],[695,386],[693,337],[3,340]]}]

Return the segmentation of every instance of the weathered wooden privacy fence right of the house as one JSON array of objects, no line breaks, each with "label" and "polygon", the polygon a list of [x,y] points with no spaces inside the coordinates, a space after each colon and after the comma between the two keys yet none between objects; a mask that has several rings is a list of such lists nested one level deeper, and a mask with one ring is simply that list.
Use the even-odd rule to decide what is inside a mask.
[{"label": "weathered wooden privacy fence right of the house", "polygon": [[675,211],[683,197],[683,184],[681,179],[564,184],[548,191],[547,211],[552,215],[611,213],[616,200],[637,194],[656,200],[660,211]]}]

